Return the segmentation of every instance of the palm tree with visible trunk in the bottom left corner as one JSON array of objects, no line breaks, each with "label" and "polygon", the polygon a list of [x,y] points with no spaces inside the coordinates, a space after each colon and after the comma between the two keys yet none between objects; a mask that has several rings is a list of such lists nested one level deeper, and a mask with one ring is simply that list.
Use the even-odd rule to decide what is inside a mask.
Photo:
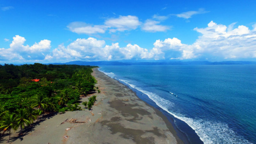
[{"label": "palm tree with visible trunk in the bottom left corner", "polygon": [[[9,139],[7,142],[10,141],[10,137],[11,137],[11,129],[13,129],[14,131],[16,131],[18,128],[17,125],[17,119],[16,119],[16,115],[13,114],[9,114],[6,113],[3,120],[1,120],[1,126],[0,129],[4,129],[4,132],[9,129]],[[3,134],[4,134],[3,132]]]}]

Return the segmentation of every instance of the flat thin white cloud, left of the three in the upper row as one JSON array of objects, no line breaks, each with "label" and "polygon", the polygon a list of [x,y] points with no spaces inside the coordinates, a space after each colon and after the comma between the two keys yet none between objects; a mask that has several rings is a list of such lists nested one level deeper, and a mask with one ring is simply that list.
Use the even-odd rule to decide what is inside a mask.
[{"label": "flat thin white cloud, left of the three in the upper row", "polygon": [[77,34],[95,34],[105,33],[106,26],[103,25],[89,25],[84,22],[72,22],[68,26],[70,31]]}]

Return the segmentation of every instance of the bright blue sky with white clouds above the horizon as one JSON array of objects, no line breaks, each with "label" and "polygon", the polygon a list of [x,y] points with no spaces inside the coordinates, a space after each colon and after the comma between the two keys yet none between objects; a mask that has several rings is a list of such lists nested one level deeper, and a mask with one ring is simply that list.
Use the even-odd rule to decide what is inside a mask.
[{"label": "bright blue sky with white clouds above the horizon", "polygon": [[0,1],[0,64],[256,61],[255,0]]}]

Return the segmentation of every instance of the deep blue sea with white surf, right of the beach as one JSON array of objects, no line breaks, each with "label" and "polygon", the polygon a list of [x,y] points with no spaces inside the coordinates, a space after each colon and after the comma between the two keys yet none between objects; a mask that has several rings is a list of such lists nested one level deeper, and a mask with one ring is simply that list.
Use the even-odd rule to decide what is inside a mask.
[{"label": "deep blue sea with white surf, right of the beach", "polygon": [[[101,66],[99,70],[147,95],[188,124],[204,143],[256,143],[256,65]],[[174,125],[186,133],[178,122]]]}]

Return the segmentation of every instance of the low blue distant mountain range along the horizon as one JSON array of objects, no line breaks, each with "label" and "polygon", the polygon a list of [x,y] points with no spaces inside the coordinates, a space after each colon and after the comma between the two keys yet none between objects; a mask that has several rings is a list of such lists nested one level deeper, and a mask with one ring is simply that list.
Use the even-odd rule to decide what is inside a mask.
[{"label": "low blue distant mountain range along the horizon", "polygon": [[256,61],[162,61],[162,62],[119,62],[119,61],[70,61],[49,63],[54,65],[129,66],[129,65],[256,65]]}]

